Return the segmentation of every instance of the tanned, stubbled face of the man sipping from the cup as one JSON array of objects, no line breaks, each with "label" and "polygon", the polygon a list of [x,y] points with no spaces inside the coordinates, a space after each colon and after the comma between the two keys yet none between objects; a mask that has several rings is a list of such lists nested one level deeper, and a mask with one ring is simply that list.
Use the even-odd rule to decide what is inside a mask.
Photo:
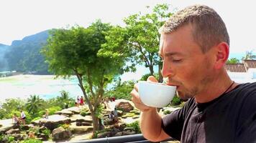
[{"label": "tanned, stubbled face of the man sipping from the cup", "polygon": [[181,99],[195,97],[204,92],[204,87],[212,80],[212,51],[202,53],[201,47],[193,41],[190,25],[162,36],[162,74],[163,77],[168,77],[168,84],[177,86]]}]

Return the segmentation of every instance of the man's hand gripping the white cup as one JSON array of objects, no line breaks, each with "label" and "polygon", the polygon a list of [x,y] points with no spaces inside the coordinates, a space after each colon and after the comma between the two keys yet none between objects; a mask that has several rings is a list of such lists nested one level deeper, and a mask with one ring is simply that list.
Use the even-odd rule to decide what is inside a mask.
[{"label": "man's hand gripping the white cup", "polygon": [[[157,79],[155,77],[148,77],[147,82],[157,82]],[[155,110],[155,107],[148,107],[147,105],[143,104],[143,102],[140,99],[139,95],[139,88],[137,84],[134,84],[134,89],[131,92],[132,95],[132,102],[134,103],[134,106],[137,107],[137,109],[140,109],[142,112],[147,112],[149,110]]]}]

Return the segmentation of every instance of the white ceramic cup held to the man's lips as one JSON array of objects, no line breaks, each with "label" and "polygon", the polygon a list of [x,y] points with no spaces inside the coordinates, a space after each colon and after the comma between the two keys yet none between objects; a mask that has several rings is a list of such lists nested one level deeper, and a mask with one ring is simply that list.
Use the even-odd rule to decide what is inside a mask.
[{"label": "white ceramic cup held to the man's lips", "polygon": [[168,105],[174,95],[176,87],[157,82],[139,81],[139,94],[143,104],[149,107],[162,108]]}]

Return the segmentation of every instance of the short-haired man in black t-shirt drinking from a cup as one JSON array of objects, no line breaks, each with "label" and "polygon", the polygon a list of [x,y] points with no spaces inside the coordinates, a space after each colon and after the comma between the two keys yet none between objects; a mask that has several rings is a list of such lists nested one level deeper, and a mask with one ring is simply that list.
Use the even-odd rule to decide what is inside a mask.
[{"label": "short-haired man in black t-shirt drinking from a cup", "polygon": [[[188,99],[182,109],[160,117],[140,100],[137,84],[132,102],[141,110],[145,138],[180,142],[256,142],[256,83],[233,82],[224,65],[229,34],[214,9],[188,6],[163,25],[160,39],[163,77]],[[147,79],[157,82],[154,77]]]}]

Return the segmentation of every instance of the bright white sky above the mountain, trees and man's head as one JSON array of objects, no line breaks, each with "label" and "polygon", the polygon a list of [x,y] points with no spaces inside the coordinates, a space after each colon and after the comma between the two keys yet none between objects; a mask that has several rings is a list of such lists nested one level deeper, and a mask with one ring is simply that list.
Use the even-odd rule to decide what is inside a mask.
[{"label": "bright white sky above the mountain, trees and man's head", "polygon": [[10,45],[52,28],[88,26],[96,19],[123,26],[125,17],[163,3],[169,4],[172,12],[193,4],[212,7],[227,26],[230,56],[241,58],[245,51],[256,53],[256,9],[250,0],[1,0],[0,43]]}]

